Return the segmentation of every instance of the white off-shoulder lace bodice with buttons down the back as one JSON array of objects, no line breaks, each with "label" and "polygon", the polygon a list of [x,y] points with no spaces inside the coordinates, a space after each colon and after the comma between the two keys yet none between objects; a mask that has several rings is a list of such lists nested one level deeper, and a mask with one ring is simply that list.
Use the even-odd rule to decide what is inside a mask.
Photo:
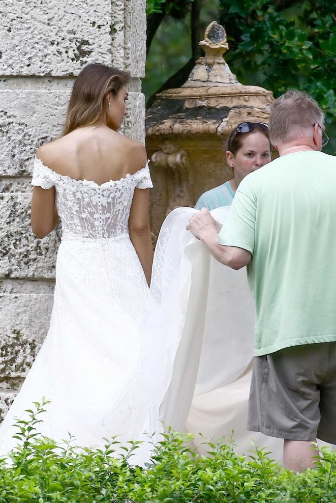
[{"label": "white off-shoulder lace bodice with buttons down the back", "polygon": [[63,238],[111,238],[128,234],[135,188],[153,187],[148,162],[133,175],[101,185],[59,175],[35,157],[32,185],[55,187],[55,205]]}]

